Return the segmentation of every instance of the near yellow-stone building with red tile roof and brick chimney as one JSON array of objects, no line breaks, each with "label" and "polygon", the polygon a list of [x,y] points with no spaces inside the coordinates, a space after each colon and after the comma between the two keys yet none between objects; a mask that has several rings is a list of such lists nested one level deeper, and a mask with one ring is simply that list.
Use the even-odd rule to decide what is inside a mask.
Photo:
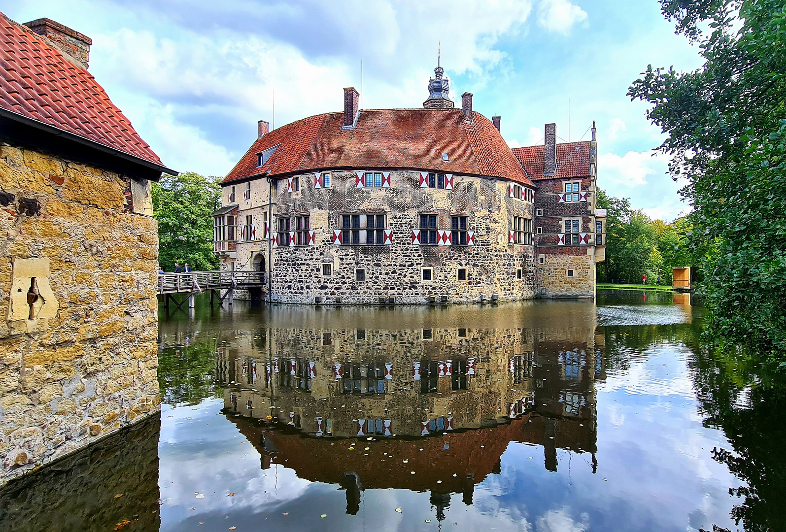
[{"label": "near yellow-stone building with red tile roof and brick chimney", "polygon": [[158,409],[150,182],[90,39],[0,13],[0,483]]}]

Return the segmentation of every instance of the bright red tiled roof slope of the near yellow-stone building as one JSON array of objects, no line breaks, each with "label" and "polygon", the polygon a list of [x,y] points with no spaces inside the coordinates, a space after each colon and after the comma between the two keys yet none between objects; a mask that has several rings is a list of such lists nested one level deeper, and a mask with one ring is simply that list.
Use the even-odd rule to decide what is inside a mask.
[{"label": "bright red tiled roof slope of the near yellow-stone building", "polygon": [[83,68],[0,13],[0,107],[157,165],[161,160]]}]

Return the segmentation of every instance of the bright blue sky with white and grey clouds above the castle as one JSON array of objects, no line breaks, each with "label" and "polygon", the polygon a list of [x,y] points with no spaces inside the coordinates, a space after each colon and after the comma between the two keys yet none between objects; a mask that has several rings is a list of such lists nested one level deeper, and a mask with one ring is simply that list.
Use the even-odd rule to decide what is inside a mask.
[{"label": "bright blue sky with white and grey clouds above the castle", "polygon": [[[647,64],[689,70],[696,47],[656,0],[6,0],[24,23],[49,17],[90,36],[90,72],[163,163],[224,175],[256,136],[343,108],[421,107],[441,42],[451,96],[502,117],[512,147],[564,140],[597,121],[598,183],[654,218],[685,210],[646,105],[626,97]],[[275,95],[275,97],[274,97]],[[274,118],[275,99],[275,118]],[[570,101],[570,121],[568,121]],[[570,123],[570,127],[568,127]]]}]

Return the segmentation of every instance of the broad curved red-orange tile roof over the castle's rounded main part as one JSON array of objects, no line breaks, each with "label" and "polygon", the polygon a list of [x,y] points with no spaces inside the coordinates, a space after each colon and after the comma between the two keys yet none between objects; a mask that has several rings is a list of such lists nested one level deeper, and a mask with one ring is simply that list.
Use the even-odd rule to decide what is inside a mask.
[{"label": "broad curved red-orange tile roof over the castle's rounded main part", "polygon": [[[485,116],[461,109],[371,109],[352,130],[343,112],[311,116],[257,139],[224,182],[326,168],[407,168],[505,178],[532,185],[520,163]],[[256,154],[280,145],[262,167]],[[443,160],[443,153],[449,161]]]}]

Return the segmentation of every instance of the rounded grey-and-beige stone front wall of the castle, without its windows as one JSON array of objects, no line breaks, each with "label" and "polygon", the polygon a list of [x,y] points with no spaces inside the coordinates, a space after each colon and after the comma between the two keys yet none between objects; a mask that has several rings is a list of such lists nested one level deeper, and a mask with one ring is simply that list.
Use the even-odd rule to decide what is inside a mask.
[{"label": "rounded grey-and-beige stone front wall of the castle, without its windows", "polygon": [[[332,172],[329,189],[314,189],[314,174],[300,176],[300,190],[286,192],[286,180],[277,183],[276,214],[310,215],[315,244],[276,248],[272,301],[282,303],[376,304],[380,297],[395,303],[429,303],[442,296],[448,303],[534,297],[534,248],[509,244],[513,215],[534,218],[531,203],[510,198],[508,182],[454,176],[453,189],[420,188],[417,171],[391,171],[390,188],[358,188],[354,172]],[[389,245],[336,245],[333,230],[343,214],[387,215]],[[476,244],[435,246],[412,244],[420,214],[439,215],[440,230],[450,231],[450,216],[467,217]],[[238,257],[240,259],[240,257]],[[241,261],[242,262],[242,261]],[[321,264],[332,264],[332,276],[321,275]],[[422,269],[433,269],[433,280],[423,281]],[[457,280],[466,269],[467,281]],[[365,270],[365,281],[355,270]],[[517,278],[517,270],[523,272]]]}]

